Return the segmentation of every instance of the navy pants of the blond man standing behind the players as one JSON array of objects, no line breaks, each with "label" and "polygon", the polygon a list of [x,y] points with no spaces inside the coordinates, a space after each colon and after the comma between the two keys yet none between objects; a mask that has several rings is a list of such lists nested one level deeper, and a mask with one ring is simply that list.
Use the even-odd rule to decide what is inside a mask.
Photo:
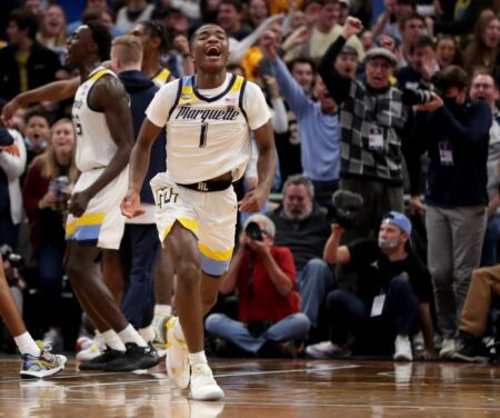
[{"label": "navy pants of the blond man standing behind the players", "polygon": [[154,225],[126,225],[120,258],[127,288],[121,311],[137,329],[149,326],[154,311],[152,267],[160,248]]}]

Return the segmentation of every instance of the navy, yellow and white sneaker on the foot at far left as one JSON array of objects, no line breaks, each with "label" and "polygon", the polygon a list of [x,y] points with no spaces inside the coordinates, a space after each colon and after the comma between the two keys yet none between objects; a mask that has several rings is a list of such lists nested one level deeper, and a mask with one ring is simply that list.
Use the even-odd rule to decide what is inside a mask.
[{"label": "navy, yellow and white sneaker on the foot at far left", "polygon": [[21,371],[22,378],[43,378],[56,375],[64,369],[68,359],[66,356],[50,352],[52,347],[43,341],[37,341],[40,348],[40,356],[22,355]]}]

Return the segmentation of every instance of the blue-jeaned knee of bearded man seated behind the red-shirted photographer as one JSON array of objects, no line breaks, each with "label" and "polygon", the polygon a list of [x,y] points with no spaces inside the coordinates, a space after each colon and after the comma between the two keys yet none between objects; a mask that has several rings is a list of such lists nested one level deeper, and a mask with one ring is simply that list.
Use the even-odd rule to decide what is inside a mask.
[{"label": "blue-jeaned knee of bearded man seated behind the red-shirted photographer", "polygon": [[297,290],[301,297],[301,311],[308,316],[314,328],[318,325],[320,306],[332,288],[333,276],[330,267],[319,258],[309,260],[304,268],[297,272]]}]

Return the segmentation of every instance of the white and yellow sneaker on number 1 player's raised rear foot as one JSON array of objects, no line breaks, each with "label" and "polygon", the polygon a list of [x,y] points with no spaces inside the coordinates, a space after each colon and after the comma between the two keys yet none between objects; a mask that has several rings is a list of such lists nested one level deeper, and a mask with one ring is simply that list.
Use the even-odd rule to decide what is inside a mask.
[{"label": "white and yellow sneaker on number 1 player's raised rear foot", "polygon": [[188,346],[176,337],[174,327],[179,318],[171,317],[167,325],[167,374],[179,389],[189,386]]}]

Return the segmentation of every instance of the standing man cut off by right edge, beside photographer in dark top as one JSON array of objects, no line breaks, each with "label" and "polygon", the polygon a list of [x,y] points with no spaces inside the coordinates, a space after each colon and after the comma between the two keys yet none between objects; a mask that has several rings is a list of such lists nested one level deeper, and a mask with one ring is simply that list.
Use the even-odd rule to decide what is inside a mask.
[{"label": "standing man cut off by right edge, beside photographer in dark top", "polygon": [[488,146],[488,223],[484,231],[484,241],[481,251],[481,267],[494,266],[499,262],[498,250],[500,239],[500,115],[497,109],[499,91],[493,77],[487,71],[477,72],[470,87],[472,99],[484,100],[493,115],[490,128],[490,142]]}]

